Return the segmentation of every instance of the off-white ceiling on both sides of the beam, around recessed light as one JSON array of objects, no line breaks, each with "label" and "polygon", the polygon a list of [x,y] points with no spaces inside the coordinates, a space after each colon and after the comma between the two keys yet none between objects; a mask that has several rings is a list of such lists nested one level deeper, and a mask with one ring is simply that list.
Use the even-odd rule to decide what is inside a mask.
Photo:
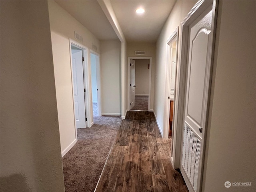
[{"label": "off-white ceiling on both sides of the beam, around recessed light", "polygon": [[[98,1],[56,2],[99,40],[118,39]],[[175,2],[175,0],[111,0],[127,42],[156,42]],[[139,7],[145,9],[144,14],[136,14],[135,10]]]}]

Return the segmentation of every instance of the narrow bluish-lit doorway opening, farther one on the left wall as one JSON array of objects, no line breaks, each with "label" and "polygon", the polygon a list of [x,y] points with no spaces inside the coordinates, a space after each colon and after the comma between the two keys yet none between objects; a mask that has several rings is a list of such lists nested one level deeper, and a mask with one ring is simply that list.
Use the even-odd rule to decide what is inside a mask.
[{"label": "narrow bluish-lit doorway opening, farther one on the left wall", "polygon": [[100,105],[100,62],[99,55],[90,51],[91,80],[92,80],[92,111],[93,116],[101,116]]}]

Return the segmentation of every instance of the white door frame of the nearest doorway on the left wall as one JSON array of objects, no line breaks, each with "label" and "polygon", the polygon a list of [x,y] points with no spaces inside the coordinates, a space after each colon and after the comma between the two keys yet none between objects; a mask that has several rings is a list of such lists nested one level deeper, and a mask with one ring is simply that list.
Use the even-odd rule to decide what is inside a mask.
[{"label": "white door frame of the nearest doorway on the left wall", "polygon": [[91,88],[91,74],[90,74],[90,62],[89,62],[89,50],[84,45],[79,42],[69,38],[69,47],[70,47],[70,68],[71,68],[71,82],[72,82],[72,98],[73,98],[73,113],[74,113],[74,125],[76,132],[76,140],[77,140],[77,130],[76,130],[76,116],[75,116],[75,106],[74,106],[74,82],[73,82],[73,68],[72,68],[72,48],[71,44],[81,48],[82,54],[84,57],[84,88],[86,92],[84,93],[85,98],[85,113],[86,113],[86,127],[91,127],[93,125],[93,117],[92,117],[92,88]]}]

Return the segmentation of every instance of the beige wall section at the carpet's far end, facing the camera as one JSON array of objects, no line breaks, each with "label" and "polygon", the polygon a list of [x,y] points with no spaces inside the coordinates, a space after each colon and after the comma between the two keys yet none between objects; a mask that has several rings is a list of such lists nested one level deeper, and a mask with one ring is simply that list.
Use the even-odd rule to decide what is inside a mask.
[{"label": "beige wall section at the carpet's far end, facing the camera", "polygon": [[121,42],[100,41],[102,115],[121,115]]}]

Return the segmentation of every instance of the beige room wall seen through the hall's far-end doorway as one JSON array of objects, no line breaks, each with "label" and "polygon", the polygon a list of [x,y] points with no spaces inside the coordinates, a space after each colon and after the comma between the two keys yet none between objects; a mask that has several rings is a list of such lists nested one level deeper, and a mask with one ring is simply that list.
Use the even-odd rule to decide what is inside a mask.
[{"label": "beige room wall seen through the hall's far-end doorway", "polygon": [[148,95],[149,87],[149,59],[135,60],[135,95]]}]

